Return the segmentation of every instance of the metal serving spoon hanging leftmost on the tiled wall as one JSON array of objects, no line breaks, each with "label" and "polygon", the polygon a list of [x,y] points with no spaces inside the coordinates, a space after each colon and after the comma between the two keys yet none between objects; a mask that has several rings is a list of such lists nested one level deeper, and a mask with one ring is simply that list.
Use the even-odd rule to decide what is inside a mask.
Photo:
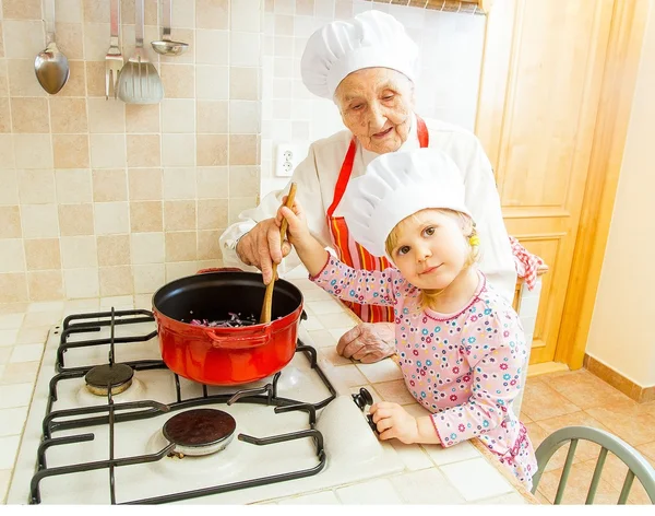
[{"label": "metal serving spoon hanging leftmost on the tiled wall", "polygon": [[68,58],[59,51],[55,42],[55,0],[45,0],[46,49],[34,60],[34,72],[41,87],[55,95],[64,86],[70,74]]}]

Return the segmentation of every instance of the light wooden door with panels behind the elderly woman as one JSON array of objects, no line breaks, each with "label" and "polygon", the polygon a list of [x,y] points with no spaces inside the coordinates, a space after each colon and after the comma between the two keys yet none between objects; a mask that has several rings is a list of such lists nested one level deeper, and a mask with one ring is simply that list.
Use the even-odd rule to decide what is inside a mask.
[{"label": "light wooden door with panels behind the elderly woman", "polygon": [[476,133],[505,225],[549,266],[531,364],[553,361],[579,230],[614,0],[496,0]]}]

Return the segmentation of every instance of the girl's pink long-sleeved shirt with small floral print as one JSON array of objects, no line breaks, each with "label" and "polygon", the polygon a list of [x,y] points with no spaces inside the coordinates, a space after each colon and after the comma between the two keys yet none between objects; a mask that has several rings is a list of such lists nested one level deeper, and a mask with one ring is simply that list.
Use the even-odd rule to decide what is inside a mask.
[{"label": "girl's pink long-sleeved shirt with small floral print", "polygon": [[392,305],[405,385],[432,412],[441,444],[478,437],[527,484],[536,461],[512,401],[528,350],[516,312],[478,274],[475,294],[455,314],[420,308],[420,291],[396,269],[356,270],[331,256],[310,279],[346,301]]}]

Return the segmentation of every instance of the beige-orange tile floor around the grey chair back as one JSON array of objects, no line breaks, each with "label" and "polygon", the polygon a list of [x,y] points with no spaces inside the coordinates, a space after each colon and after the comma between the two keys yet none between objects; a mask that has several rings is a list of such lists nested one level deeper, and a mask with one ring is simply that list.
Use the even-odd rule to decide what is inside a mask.
[{"label": "beige-orange tile floor around the grey chair back", "polygon": [[[521,421],[535,448],[562,426],[585,425],[610,432],[636,448],[655,467],[655,401],[636,403],[586,370],[552,373],[527,379]],[[564,504],[584,504],[594,473],[599,447],[580,443],[564,492]],[[552,503],[567,458],[562,447],[548,462],[537,497]],[[616,504],[628,468],[608,455],[596,504]],[[643,486],[635,479],[628,499],[632,504],[648,504]]]}]

